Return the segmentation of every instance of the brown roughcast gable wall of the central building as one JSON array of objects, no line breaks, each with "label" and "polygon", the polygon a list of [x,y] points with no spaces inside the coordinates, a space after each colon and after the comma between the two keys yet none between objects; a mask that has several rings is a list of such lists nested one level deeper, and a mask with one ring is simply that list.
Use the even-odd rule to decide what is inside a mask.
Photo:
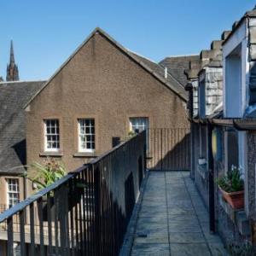
[{"label": "brown roughcast gable wall of the central building", "polygon": [[[189,128],[185,102],[96,34],[27,108],[27,163],[44,160],[44,119],[60,120],[59,158],[73,170],[112,148],[113,137],[124,140],[131,117],[148,117],[152,128]],[[95,155],[77,154],[79,118],[95,119]]]}]

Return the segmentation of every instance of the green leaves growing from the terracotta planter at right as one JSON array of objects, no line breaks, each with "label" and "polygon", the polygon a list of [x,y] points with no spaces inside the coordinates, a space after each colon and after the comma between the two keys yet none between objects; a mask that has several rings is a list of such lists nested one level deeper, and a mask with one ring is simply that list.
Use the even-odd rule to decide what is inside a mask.
[{"label": "green leaves growing from the terracotta planter at right", "polygon": [[216,179],[216,183],[218,183],[218,186],[221,189],[228,193],[237,192],[244,189],[244,182],[241,178],[241,170],[236,166],[233,166],[226,175],[218,177]]}]

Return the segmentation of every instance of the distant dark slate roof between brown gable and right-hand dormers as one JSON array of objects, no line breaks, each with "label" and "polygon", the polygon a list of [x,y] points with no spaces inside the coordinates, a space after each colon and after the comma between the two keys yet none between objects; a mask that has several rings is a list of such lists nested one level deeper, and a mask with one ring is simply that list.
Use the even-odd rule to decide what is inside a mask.
[{"label": "distant dark slate roof between brown gable and right-hand dormers", "polygon": [[190,61],[199,61],[199,55],[183,55],[183,56],[171,56],[166,57],[164,60],[160,61],[161,67],[167,67],[168,73],[170,73],[180,84],[186,86],[188,84],[187,76],[184,71],[188,70]]}]

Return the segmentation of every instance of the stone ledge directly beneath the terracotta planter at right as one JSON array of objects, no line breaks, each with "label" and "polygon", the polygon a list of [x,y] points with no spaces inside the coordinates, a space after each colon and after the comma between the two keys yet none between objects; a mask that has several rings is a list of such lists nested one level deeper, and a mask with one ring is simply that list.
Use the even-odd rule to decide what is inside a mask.
[{"label": "stone ledge directly beneath the terracotta planter at right", "polygon": [[239,233],[242,236],[248,236],[251,234],[249,219],[247,218],[244,209],[233,209],[229,203],[224,201],[221,193],[218,193],[218,201],[220,206],[224,209],[224,212],[230,217],[231,221],[236,224]]}]

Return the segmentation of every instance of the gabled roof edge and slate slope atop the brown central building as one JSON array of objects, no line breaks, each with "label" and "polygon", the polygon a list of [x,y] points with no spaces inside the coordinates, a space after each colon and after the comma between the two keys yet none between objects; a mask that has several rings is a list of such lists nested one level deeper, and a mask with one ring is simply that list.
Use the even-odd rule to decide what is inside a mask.
[{"label": "gabled roof edge and slate slope atop the brown central building", "polygon": [[[73,52],[72,55],[69,56],[69,58],[67,59],[67,61],[65,61],[61,67],[59,69],[56,70],[56,72],[49,78],[49,80],[44,84],[44,86],[42,87],[41,90],[38,90],[38,92],[36,93],[35,96],[32,96],[32,99],[26,103],[26,105],[24,106],[24,108],[26,108],[33,100],[34,98],[42,91],[44,90],[44,88],[49,84],[49,82],[55,78],[55,76],[61,72],[62,68],[64,68],[67,63],[69,61],[71,61],[73,59],[73,56],[76,55],[79,50],[85,45],[87,44],[87,42],[90,40],[90,38],[92,38],[95,34],[101,34],[104,38],[107,38],[108,41],[110,41],[112,44],[114,44],[119,50],[121,50],[125,55],[128,55],[131,60],[137,62],[138,65],[140,65],[141,67],[143,67],[148,73],[151,73],[155,79],[160,80],[160,82],[164,85],[166,85],[166,87],[170,90],[172,90],[173,92],[175,92],[178,96],[180,96],[180,98],[187,102],[188,101],[188,96],[185,90],[182,90],[181,84],[172,77],[172,74],[169,74],[169,79],[165,79],[164,76],[164,71],[162,69],[162,67],[160,67],[157,63],[153,62],[153,61],[149,61],[148,59],[139,56],[135,53],[132,53],[130,50],[125,49],[124,46],[122,46],[121,44],[119,44],[116,40],[114,40],[112,37],[110,37],[108,35],[107,32],[104,32],[101,28],[96,27],[96,29],[90,33],[90,35],[88,36],[88,38],[86,38],[84,40],[84,42],[82,44],[79,45],[79,47],[77,49],[75,49],[75,51]],[[172,82],[171,82],[172,81]]]}]

